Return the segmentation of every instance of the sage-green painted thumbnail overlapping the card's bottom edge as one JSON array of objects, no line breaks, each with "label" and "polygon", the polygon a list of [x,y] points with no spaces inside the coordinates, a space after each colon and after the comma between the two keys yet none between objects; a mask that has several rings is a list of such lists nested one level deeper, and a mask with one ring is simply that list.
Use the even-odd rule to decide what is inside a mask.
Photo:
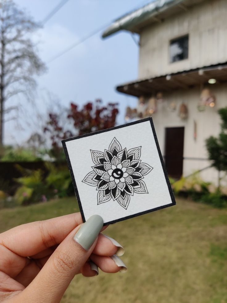
[{"label": "sage-green painted thumbnail overlapping the card's bottom edge", "polygon": [[93,215],[80,227],[74,236],[74,240],[85,250],[89,250],[100,233],[102,227],[102,217],[99,215]]}]

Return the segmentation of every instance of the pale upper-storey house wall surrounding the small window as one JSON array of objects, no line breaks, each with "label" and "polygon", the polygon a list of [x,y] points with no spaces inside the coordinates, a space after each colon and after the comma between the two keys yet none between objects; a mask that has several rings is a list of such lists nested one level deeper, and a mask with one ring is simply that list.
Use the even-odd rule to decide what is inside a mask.
[{"label": "pale upper-storey house wall surrounding the small window", "polygon": [[[170,63],[170,40],[189,34],[188,59]],[[227,61],[227,0],[207,0],[146,27],[140,36],[139,78]]]}]

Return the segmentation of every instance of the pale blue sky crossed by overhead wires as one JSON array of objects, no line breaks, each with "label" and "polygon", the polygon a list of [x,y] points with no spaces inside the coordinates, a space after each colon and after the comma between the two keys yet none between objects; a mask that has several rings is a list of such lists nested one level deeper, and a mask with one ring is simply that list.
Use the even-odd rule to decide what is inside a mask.
[{"label": "pale blue sky crossed by overhead wires", "polygon": [[[14,2],[40,22],[60,0]],[[39,56],[48,70],[37,78],[32,104],[23,95],[8,102],[10,106],[18,103],[20,111],[18,119],[5,124],[5,144],[23,144],[31,132],[42,132],[41,124],[34,122],[35,113],[39,112],[45,119],[56,100],[63,106],[68,106],[71,101],[83,105],[97,98],[104,102],[118,102],[120,114],[117,123],[123,124],[126,106],[135,107],[137,102],[136,98],[115,90],[116,85],[137,78],[139,48],[129,32],[118,32],[106,39],[102,39],[99,32],[68,53],[49,61],[97,28],[148,2],[69,0],[53,15],[33,36],[39,42]]]}]

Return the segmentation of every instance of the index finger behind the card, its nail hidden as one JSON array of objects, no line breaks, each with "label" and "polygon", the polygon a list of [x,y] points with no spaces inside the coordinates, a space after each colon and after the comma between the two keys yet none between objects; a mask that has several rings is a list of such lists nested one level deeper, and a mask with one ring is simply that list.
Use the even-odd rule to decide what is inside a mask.
[{"label": "index finger behind the card, its nail hidden", "polygon": [[81,223],[80,213],[74,213],[23,224],[0,234],[0,244],[22,257],[35,255],[60,244]]}]

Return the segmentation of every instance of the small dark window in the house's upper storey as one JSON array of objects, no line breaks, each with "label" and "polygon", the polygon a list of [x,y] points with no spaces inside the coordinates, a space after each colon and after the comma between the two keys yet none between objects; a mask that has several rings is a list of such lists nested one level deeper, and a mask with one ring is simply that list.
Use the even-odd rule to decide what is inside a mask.
[{"label": "small dark window in the house's upper storey", "polygon": [[170,62],[188,58],[188,35],[170,41]]}]

